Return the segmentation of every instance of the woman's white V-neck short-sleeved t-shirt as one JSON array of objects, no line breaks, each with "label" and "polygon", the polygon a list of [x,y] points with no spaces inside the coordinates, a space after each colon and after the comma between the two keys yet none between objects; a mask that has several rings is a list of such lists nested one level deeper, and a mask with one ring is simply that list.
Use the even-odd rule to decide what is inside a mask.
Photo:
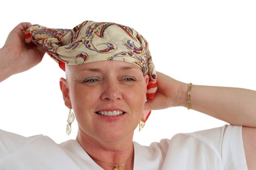
[{"label": "woman's white V-neck short-sleeved t-shirt", "polygon": [[[148,147],[134,142],[134,169],[247,169],[241,129],[223,126],[177,134]],[[24,137],[3,130],[0,169],[102,170],[76,140],[57,144],[47,136]]]}]

